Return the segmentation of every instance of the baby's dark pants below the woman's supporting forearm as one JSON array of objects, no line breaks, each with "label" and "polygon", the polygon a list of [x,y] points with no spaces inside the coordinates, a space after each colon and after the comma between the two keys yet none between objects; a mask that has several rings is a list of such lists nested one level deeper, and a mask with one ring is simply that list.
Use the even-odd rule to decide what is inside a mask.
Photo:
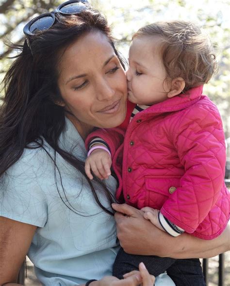
[{"label": "baby's dark pants below the woman's supporting forearm", "polygon": [[158,276],[165,270],[176,286],[205,286],[204,275],[199,259],[173,259],[159,256],[131,255],[121,248],[116,256],[113,275],[123,279],[123,274],[138,270],[144,262],[148,272]]}]

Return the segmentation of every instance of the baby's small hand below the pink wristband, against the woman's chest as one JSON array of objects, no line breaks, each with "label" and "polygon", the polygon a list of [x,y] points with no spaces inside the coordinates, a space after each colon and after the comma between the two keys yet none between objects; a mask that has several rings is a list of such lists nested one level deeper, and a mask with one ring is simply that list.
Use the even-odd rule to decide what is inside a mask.
[{"label": "baby's small hand below the pink wristband, against the woman's chest", "polygon": [[92,151],[89,157],[85,160],[85,173],[90,180],[93,179],[93,175],[90,169],[94,172],[100,180],[108,179],[111,175],[110,167],[112,165],[112,159],[110,154],[103,149],[96,149]]}]

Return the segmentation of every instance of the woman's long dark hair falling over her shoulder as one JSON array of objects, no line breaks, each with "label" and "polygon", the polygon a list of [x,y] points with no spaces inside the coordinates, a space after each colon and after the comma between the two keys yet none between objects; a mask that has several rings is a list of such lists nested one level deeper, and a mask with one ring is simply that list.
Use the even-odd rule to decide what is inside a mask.
[{"label": "woman's long dark hair falling over her shoulder", "polygon": [[[88,8],[77,15],[56,17],[56,23],[49,30],[31,38],[31,49],[26,42],[24,45],[13,45],[20,53],[3,79],[5,97],[0,112],[0,176],[16,163],[24,148],[43,148],[49,155],[43,144],[45,139],[55,151],[54,157],[49,155],[55,174],[58,170],[55,158],[59,153],[88,181],[100,208],[112,214],[100,203],[92,182],[85,175],[84,162],[58,145],[58,138],[65,127],[66,111],[55,103],[62,100],[57,85],[60,52],[79,37],[93,30],[100,31],[107,36],[119,60],[120,57],[108,23],[98,11]],[[30,144],[32,142],[36,142],[34,147]],[[102,182],[97,181],[107,200],[112,203],[114,197]],[[64,188],[63,191],[65,194]],[[66,198],[61,198],[66,201]],[[73,210],[71,205],[66,203],[66,206]]]}]

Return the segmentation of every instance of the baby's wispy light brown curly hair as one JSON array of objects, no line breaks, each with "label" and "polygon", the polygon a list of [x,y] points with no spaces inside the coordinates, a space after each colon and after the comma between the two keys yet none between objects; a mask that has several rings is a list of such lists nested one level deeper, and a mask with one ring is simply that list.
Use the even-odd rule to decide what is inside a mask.
[{"label": "baby's wispy light brown curly hair", "polygon": [[162,57],[167,75],[173,79],[182,77],[185,92],[207,83],[216,72],[217,64],[209,38],[191,22],[155,22],[133,34],[162,38]]}]

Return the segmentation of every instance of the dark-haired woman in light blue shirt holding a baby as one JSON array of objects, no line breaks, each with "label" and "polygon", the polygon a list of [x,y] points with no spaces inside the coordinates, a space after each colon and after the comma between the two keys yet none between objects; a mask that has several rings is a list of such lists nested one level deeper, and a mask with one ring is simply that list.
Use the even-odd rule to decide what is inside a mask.
[{"label": "dark-haired woman in light blue shirt holding a baby", "polygon": [[[84,173],[86,136],[125,118],[123,65],[103,16],[85,3],[66,3],[61,13],[42,15],[45,22],[26,25],[27,41],[4,79],[0,285],[17,285],[28,253],[45,286],[149,286],[153,280],[143,266],[124,280],[108,277],[119,247],[111,215],[117,183],[112,176],[106,185],[92,183]],[[175,244],[140,211],[114,208],[126,252],[186,258],[228,249],[229,229],[214,241],[181,235]]]}]

